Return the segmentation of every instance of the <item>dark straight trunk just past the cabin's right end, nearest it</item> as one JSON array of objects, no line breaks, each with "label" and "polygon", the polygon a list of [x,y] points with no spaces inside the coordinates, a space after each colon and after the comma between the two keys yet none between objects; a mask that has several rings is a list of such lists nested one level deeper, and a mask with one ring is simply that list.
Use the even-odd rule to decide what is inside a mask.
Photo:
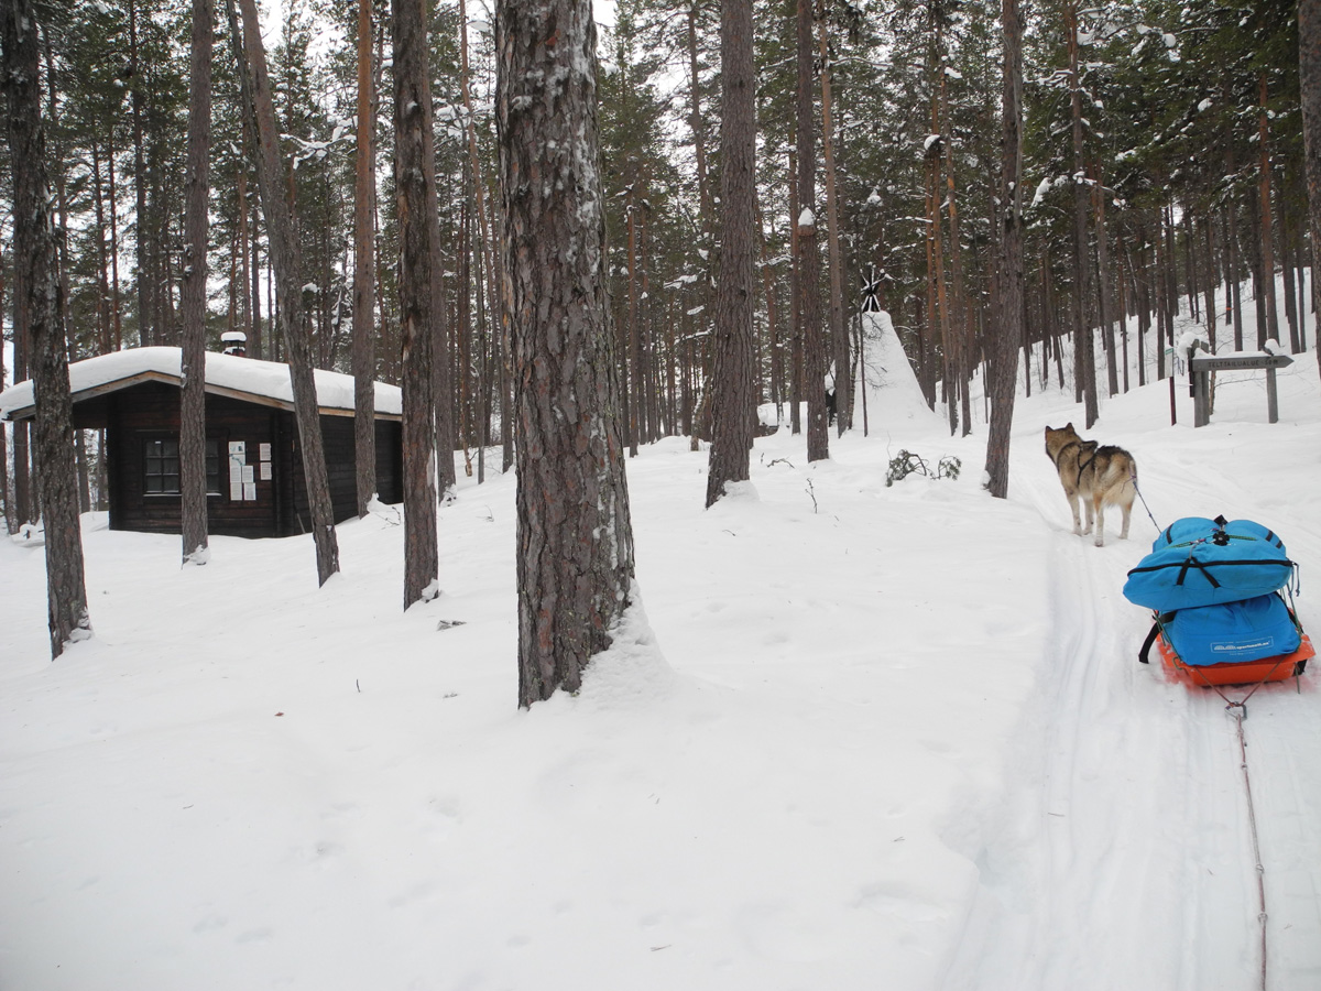
[{"label": "dark straight trunk just past the cabin's right end, nearest it", "polygon": [[394,0],[395,186],[399,213],[399,369],[404,395],[404,609],[436,595],[436,449],[432,425],[432,217],[436,159],[424,0]]}]

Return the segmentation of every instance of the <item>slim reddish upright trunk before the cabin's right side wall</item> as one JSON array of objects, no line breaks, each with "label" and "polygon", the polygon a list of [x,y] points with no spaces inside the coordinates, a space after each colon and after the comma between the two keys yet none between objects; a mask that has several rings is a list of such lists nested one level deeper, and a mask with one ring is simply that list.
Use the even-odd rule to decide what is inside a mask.
[{"label": "slim reddish upright trunk before the cabin's right side wall", "polygon": [[358,517],[376,494],[376,159],[373,114],[371,0],[358,0],[358,135],[353,186],[353,452]]}]

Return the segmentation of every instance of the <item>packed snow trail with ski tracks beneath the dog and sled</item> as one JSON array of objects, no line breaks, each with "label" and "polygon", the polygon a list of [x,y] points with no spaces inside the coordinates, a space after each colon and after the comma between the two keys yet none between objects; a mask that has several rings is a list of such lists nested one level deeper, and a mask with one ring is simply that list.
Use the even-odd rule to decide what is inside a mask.
[{"label": "packed snow trail with ski tracks beneath the dog and sled", "polygon": [[[983,905],[980,925],[974,909],[964,967],[954,969],[947,987],[1256,988],[1256,872],[1235,720],[1215,692],[1168,680],[1155,650],[1149,666],[1137,662],[1148,620],[1120,591],[1157,530],[1139,501],[1129,539],[1118,539],[1119,511],[1111,509],[1107,546],[1094,547],[1091,535],[1071,532],[1040,444],[1025,437],[1018,449],[1015,498],[1057,531],[1044,712],[1029,715],[1024,729],[1040,736],[1042,777],[1007,799],[1028,825],[1004,836],[1005,851],[989,843],[983,860],[1011,868],[983,865],[984,889],[997,905],[989,921]],[[1177,465],[1139,462],[1159,525],[1214,515],[1221,510],[1206,501],[1215,493],[1227,515],[1258,518],[1284,535],[1295,560],[1321,560],[1312,527],[1288,506],[1262,505],[1227,482],[1196,448]],[[1314,609],[1303,601],[1299,609],[1305,628],[1321,630]],[[1271,991],[1321,987],[1314,679],[1309,669],[1303,679],[1263,686],[1244,723],[1266,868]],[[1125,801],[1115,803],[1116,794]]]}]

